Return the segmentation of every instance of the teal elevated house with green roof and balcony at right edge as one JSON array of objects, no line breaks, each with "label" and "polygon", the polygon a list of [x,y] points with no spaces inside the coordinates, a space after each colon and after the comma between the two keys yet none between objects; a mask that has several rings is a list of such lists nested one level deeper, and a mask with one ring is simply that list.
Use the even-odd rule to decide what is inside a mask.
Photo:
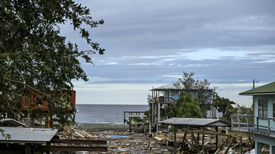
[{"label": "teal elevated house with green roof and balcony at right edge", "polygon": [[269,144],[269,153],[275,153],[275,82],[239,95],[254,96],[254,115],[232,115],[232,129],[255,134],[256,154],[262,153],[262,144]]}]

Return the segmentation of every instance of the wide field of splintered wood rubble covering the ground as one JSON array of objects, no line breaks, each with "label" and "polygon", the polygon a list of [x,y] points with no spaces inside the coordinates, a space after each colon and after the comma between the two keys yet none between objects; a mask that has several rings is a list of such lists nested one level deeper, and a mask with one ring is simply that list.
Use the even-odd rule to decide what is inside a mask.
[{"label": "wide field of splintered wood rubble covering the ground", "polygon": [[[102,153],[174,153],[174,133],[162,131],[161,133],[129,133],[128,131],[82,131],[78,127],[65,127],[64,132],[59,133],[60,138],[76,140],[104,140],[107,141],[107,152],[78,151],[78,154],[102,154]],[[216,136],[218,144],[216,145]],[[248,138],[243,134],[232,136],[231,134],[218,133],[204,128],[197,131],[184,131],[176,134],[177,153],[215,153],[215,154],[251,154]],[[218,149],[216,149],[218,147]],[[268,149],[265,150],[268,152]]]}]

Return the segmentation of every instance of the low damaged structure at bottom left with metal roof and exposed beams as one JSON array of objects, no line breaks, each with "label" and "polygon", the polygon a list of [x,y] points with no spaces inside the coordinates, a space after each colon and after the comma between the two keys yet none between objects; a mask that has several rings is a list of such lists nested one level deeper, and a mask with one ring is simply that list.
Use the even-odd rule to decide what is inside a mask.
[{"label": "low damaged structure at bottom left with metal roof and exposed beams", "polygon": [[[107,151],[106,141],[93,140],[60,140],[56,135],[57,129],[30,127],[0,127],[5,136],[0,136],[0,153],[31,154],[34,151]],[[10,138],[6,138],[10,135]],[[51,145],[51,144],[54,145]],[[57,146],[61,144],[85,144],[89,146]],[[46,144],[46,145],[43,145]]]}]

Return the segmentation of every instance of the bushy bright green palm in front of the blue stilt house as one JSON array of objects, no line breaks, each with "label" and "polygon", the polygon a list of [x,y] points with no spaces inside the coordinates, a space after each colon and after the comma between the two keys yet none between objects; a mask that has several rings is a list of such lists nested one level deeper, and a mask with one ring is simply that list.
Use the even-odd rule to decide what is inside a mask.
[{"label": "bushy bright green palm in front of the blue stilt house", "polygon": [[176,103],[166,107],[168,118],[201,118],[201,110],[198,100],[190,95],[184,94],[177,99]]}]

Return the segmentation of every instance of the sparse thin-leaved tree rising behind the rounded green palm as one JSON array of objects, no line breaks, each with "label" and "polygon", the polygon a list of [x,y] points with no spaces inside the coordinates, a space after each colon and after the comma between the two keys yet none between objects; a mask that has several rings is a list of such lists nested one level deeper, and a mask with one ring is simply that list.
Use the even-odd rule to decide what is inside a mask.
[{"label": "sparse thin-leaved tree rising behind the rounded green palm", "polygon": [[[199,100],[199,107],[204,116],[206,112],[209,111],[212,107],[212,104],[209,101],[212,99],[212,92],[209,92],[210,82],[207,79],[195,80],[193,76],[195,73],[186,73],[183,72],[182,78],[179,78],[177,82],[174,83],[174,86],[177,89],[183,89],[184,93],[192,94]],[[181,86],[182,85],[182,86]]]}]

